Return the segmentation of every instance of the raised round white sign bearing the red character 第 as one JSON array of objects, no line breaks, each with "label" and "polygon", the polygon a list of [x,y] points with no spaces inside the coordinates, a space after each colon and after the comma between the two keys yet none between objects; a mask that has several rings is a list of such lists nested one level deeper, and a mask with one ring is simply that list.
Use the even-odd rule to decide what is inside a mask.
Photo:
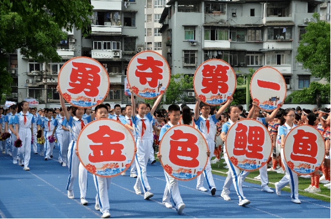
[{"label": "raised round white sign bearing the red character \u7b2c", "polygon": [[220,59],[203,62],[195,71],[193,88],[199,99],[209,105],[224,104],[237,86],[233,68]]}]

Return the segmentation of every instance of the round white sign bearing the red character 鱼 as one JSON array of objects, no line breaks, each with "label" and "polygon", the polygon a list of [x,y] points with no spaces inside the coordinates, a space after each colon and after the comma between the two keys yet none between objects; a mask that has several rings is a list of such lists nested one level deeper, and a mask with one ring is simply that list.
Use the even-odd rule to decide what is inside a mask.
[{"label": "round white sign bearing the red character \u9c7c", "polygon": [[284,142],[284,158],[288,167],[300,175],[318,171],[325,156],[324,139],[313,126],[293,128]]}]

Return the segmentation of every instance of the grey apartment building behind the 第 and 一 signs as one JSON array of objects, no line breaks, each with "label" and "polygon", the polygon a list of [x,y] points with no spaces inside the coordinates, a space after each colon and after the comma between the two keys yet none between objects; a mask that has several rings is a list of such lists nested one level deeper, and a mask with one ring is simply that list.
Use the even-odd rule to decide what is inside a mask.
[{"label": "grey apartment building behind the \u7b2c and \u4e00 signs", "polygon": [[[213,58],[242,73],[272,66],[284,76],[288,95],[318,80],[295,57],[322,3],[330,7],[330,1],[319,0],[170,0],[159,21],[162,55],[172,74],[192,75]],[[330,21],[329,9],[324,11]]]}]

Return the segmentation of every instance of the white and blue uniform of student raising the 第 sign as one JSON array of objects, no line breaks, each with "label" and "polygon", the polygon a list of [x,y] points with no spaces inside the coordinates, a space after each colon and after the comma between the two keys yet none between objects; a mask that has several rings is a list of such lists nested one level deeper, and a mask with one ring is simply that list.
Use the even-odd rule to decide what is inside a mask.
[{"label": "white and blue uniform of student raising the \u7b2c sign", "polygon": [[[208,121],[208,122],[207,122]],[[197,126],[197,128],[200,130],[202,135],[205,137],[209,151],[211,153],[214,152],[215,149],[215,135],[216,135],[216,123],[217,119],[215,118],[214,115],[210,115],[207,119],[203,116],[199,116],[198,120],[194,119],[194,122]],[[209,126],[208,126],[209,123]],[[210,190],[216,189],[214,179],[213,179],[213,174],[212,174],[212,166],[210,164],[210,160],[212,159],[212,156],[209,156],[206,168],[204,170],[204,176],[208,184],[208,188]],[[197,189],[199,190],[200,188],[203,187],[203,178],[202,175],[200,174],[197,178]],[[213,192],[213,191],[212,191]]]}]

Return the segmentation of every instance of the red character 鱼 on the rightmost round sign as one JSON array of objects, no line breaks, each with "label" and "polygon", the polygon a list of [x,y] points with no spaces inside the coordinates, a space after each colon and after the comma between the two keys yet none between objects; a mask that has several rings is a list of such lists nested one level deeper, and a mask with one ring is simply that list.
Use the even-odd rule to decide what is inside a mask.
[{"label": "red character \u9c7c on the rightmost round sign", "polygon": [[317,163],[315,158],[317,155],[317,136],[311,132],[305,132],[302,129],[298,130],[298,133],[293,135],[293,152],[290,157],[292,160]]}]

